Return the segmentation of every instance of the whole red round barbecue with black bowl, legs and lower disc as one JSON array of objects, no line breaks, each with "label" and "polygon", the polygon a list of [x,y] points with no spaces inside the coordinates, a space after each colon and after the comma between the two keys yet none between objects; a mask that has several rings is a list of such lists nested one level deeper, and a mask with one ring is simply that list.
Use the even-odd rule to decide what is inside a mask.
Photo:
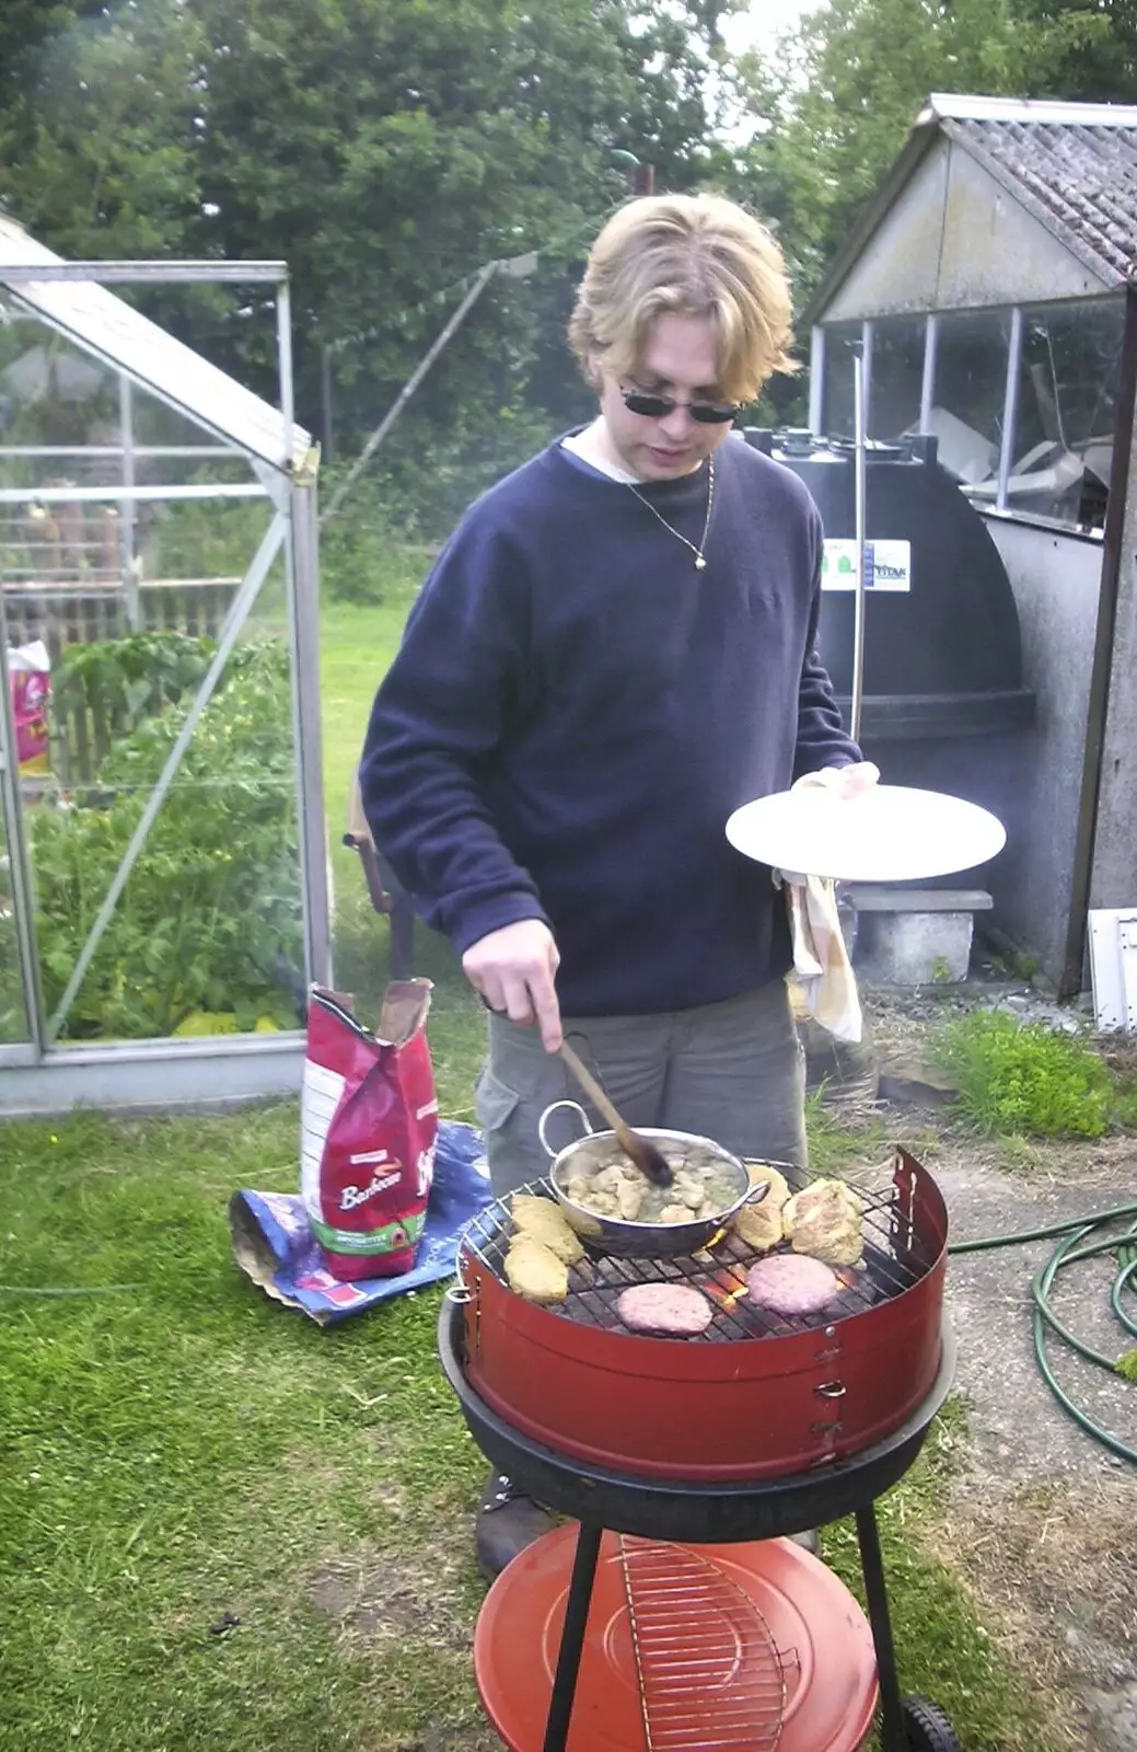
[{"label": "whole red round barbecue with black bowl, legs and lower disc", "polygon": [[[858,1193],[862,1268],[788,1321],[741,1298],[755,1254],[734,1235],[687,1258],[590,1254],[552,1309],[508,1289],[506,1204],[466,1230],[443,1370],[494,1466],[578,1522],[522,1552],[478,1621],[510,1752],[857,1752],[878,1689],[883,1752],[958,1752],[934,1705],[900,1698],[872,1510],[950,1389],[948,1219],[906,1151]],[[669,1275],[715,1302],[708,1332],[622,1328],[620,1289]],[[781,1537],[850,1512],[867,1619]]]}]

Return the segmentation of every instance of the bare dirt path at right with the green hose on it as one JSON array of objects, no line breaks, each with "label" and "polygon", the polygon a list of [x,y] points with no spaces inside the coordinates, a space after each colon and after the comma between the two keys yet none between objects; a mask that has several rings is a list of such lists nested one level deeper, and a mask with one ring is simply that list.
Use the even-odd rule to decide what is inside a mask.
[{"label": "bare dirt path at right with the green hose on it", "polygon": [[[974,995],[948,1000],[953,1009],[969,1002]],[[878,1060],[911,1063],[944,1007],[936,997],[874,997]],[[946,1125],[943,1107],[893,1102],[879,1113],[886,1134],[909,1139],[936,1176],[953,1240],[1137,1200],[1137,1137],[990,1144]],[[1055,1698],[1055,1740],[1079,1752],[1133,1752],[1137,1466],[1086,1435],[1041,1377],[1030,1279],[1053,1246],[1042,1240],[951,1261],[948,1309],[971,1452],[932,1540],[964,1575],[1020,1670]],[[1114,1268],[1111,1258],[1070,1267],[1051,1296],[1070,1330],[1109,1356],[1133,1344],[1109,1307]],[[1051,1340],[1048,1354],[1070,1398],[1137,1447],[1137,1388],[1062,1340]]]}]

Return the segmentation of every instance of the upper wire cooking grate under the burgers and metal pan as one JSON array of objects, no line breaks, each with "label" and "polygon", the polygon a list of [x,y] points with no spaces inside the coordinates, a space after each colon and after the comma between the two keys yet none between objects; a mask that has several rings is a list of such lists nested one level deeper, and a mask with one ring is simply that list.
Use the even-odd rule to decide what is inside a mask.
[{"label": "upper wire cooking grate under the burgers and metal pan", "polygon": [[[783,1172],[794,1190],[815,1179],[801,1169],[790,1167]],[[531,1181],[517,1190],[545,1198],[555,1197],[548,1181]],[[734,1230],[724,1230],[711,1247],[694,1254],[638,1260],[589,1253],[569,1268],[568,1298],[550,1305],[548,1312],[580,1326],[624,1330],[615,1302],[629,1284],[689,1282],[713,1302],[715,1319],[706,1332],[685,1339],[683,1344],[785,1337],[830,1326],[850,1314],[864,1314],[876,1303],[911,1289],[930,1270],[934,1260],[904,1209],[906,1190],[899,1176],[878,1191],[857,1186],[857,1197],[864,1204],[864,1260],[855,1267],[837,1267],[841,1291],[820,1314],[785,1319],[755,1307],[746,1295],[746,1274],[762,1254],[748,1247]],[[508,1200],[487,1205],[464,1232],[468,1251],[501,1282],[506,1282],[505,1253],[510,1233]],[[787,1251],[785,1244],[778,1251]],[[464,1293],[468,1293],[466,1284],[459,1295]]]}]

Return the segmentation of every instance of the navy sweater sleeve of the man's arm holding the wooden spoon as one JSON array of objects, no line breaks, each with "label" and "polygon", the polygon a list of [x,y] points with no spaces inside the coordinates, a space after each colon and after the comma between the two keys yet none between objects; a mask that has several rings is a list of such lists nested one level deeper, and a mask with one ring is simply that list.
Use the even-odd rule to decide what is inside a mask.
[{"label": "navy sweater sleeve of the man's arm holding the wooden spoon", "polygon": [[375,844],[459,955],[491,930],[545,918],[480,783],[522,706],[527,629],[524,566],[492,520],[475,513],[412,608],[363,748],[359,785]]}]

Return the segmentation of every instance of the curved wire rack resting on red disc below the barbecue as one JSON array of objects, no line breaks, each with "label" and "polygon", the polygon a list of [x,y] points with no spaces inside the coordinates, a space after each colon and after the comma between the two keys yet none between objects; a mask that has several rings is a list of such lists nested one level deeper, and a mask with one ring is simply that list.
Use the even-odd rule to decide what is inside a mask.
[{"label": "curved wire rack resting on red disc below the barbecue", "polygon": [[683,1545],[620,1535],[646,1752],[776,1752],[785,1666],[755,1601]]}]

